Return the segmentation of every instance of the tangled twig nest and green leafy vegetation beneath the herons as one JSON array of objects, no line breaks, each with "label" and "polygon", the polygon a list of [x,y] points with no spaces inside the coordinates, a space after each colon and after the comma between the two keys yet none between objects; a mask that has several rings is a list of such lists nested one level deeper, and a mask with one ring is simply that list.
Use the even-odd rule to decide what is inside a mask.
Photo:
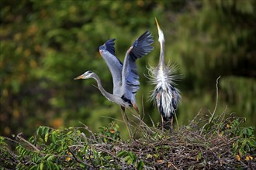
[{"label": "tangled twig nest and green leafy vegetation beneath the herons", "polygon": [[[234,169],[256,168],[254,128],[225,111],[198,114],[174,134],[140,121],[137,138],[120,137],[115,122],[93,133],[85,124],[56,130],[40,127],[26,140],[0,138],[0,165],[16,169]],[[133,127],[134,129],[135,127]],[[140,137],[139,137],[140,135]],[[11,146],[15,145],[15,151]]]}]

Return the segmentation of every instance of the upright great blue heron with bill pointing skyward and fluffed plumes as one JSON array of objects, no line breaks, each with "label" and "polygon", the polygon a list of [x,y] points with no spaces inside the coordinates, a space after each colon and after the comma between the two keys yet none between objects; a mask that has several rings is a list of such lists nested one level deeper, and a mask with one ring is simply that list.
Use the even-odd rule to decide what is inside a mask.
[{"label": "upright great blue heron with bill pointing skyward and fluffed plumes", "polygon": [[158,25],[158,41],[160,42],[160,58],[157,67],[149,68],[149,75],[151,83],[155,85],[151,99],[154,100],[154,104],[157,105],[157,109],[161,114],[161,124],[164,128],[164,121],[171,122],[171,132],[173,131],[173,117],[175,110],[178,107],[178,101],[180,100],[180,92],[174,87],[175,80],[175,67],[171,65],[165,65],[164,63],[164,33]]}]

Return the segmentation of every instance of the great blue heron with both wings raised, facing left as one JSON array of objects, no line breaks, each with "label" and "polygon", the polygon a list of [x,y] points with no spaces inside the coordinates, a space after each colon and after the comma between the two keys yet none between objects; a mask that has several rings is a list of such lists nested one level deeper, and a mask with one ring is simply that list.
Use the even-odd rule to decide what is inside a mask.
[{"label": "great blue heron with both wings raised, facing left", "polygon": [[[133,45],[127,50],[123,63],[115,56],[114,41],[115,39],[109,39],[102,46],[99,46],[99,53],[106,61],[112,74],[113,93],[106,92],[102,87],[99,76],[91,71],[87,71],[81,76],[76,77],[75,80],[94,78],[103,96],[119,104],[124,113],[125,107],[133,106],[139,114],[135,95],[140,88],[140,82],[135,61],[154,49],[153,46],[150,46],[150,44],[154,42],[153,37],[150,32],[147,31],[137,38],[135,42],[133,42]],[[126,119],[128,121],[127,116]]]}]

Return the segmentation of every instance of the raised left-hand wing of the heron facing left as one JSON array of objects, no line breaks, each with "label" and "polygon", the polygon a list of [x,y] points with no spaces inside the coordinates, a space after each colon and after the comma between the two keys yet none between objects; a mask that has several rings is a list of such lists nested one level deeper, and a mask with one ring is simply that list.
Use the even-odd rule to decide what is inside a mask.
[{"label": "raised left-hand wing of the heron facing left", "polygon": [[115,56],[114,41],[115,39],[109,39],[102,46],[99,46],[99,50],[112,74],[113,93],[119,95],[119,86],[122,81],[123,63]]}]

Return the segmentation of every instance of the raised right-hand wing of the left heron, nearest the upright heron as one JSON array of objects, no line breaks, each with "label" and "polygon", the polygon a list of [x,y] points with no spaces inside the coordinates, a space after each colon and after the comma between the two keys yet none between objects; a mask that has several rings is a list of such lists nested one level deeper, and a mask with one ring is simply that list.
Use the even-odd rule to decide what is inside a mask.
[{"label": "raised right-hand wing of the left heron, nearest the upright heron", "polygon": [[144,32],[139,38],[133,42],[133,46],[128,49],[124,62],[123,62],[123,70],[122,70],[122,86],[125,90],[125,96],[130,97],[130,99],[134,98],[135,93],[139,90],[140,82],[139,76],[137,74],[137,65],[136,59],[139,59],[147,53],[150,53],[153,46],[150,46],[154,42],[153,37],[150,32]]}]

